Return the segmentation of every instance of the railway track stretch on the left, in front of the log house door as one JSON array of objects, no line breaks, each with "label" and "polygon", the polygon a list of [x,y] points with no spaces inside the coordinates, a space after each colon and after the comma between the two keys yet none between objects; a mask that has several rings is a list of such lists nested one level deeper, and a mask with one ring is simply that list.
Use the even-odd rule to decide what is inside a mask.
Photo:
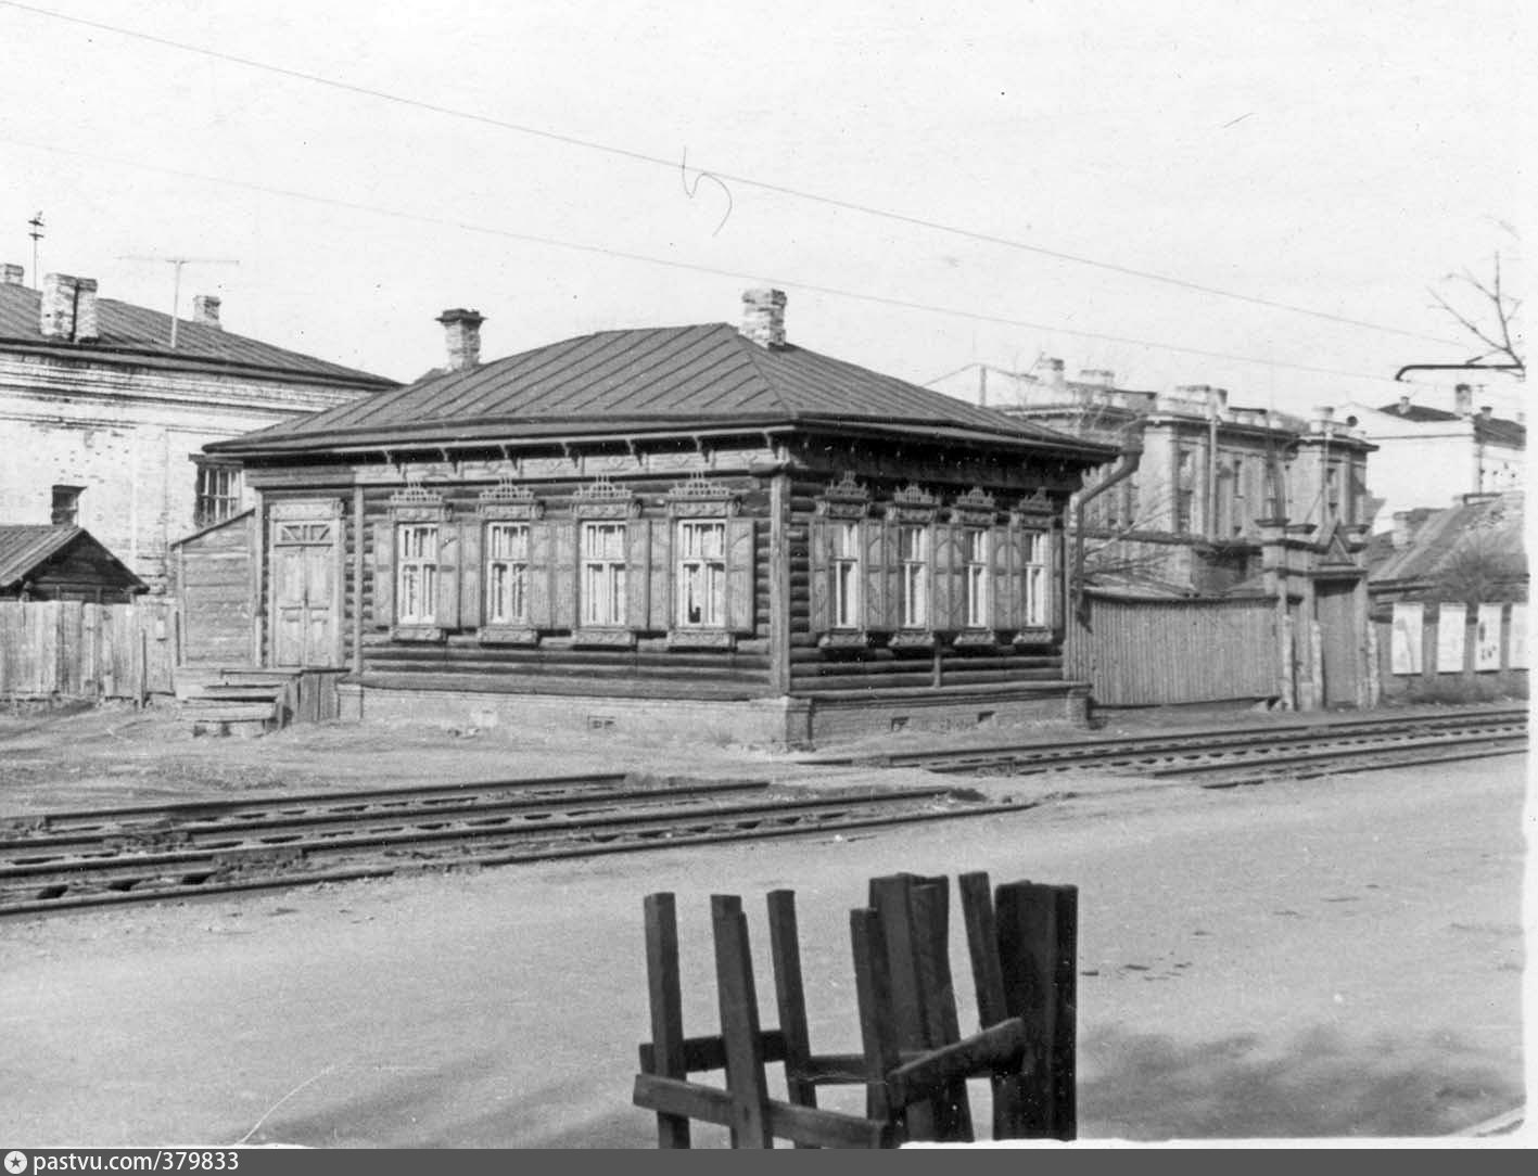
[{"label": "railway track stretch on the left, in front of the log house door", "polygon": [[626,776],[49,813],[0,826],[0,915],[1020,812],[954,789]]}]

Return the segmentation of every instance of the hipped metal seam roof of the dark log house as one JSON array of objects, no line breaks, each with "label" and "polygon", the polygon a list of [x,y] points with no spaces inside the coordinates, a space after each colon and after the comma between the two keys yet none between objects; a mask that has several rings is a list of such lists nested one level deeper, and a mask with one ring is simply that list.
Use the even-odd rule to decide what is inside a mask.
[{"label": "hipped metal seam roof of the dark log house", "polygon": [[209,452],[644,434],[783,424],[1035,443],[1106,461],[1100,446],[726,323],[601,331],[283,421]]}]

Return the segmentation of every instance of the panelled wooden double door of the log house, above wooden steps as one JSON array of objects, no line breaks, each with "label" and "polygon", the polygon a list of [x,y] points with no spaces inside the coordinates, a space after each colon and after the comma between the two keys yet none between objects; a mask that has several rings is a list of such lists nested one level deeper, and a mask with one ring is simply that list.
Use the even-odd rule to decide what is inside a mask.
[{"label": "panelled wooden double door of the log house, above wooden steps", "polygon": [[341,503],[274,503],[271,664],[341,664]]}]

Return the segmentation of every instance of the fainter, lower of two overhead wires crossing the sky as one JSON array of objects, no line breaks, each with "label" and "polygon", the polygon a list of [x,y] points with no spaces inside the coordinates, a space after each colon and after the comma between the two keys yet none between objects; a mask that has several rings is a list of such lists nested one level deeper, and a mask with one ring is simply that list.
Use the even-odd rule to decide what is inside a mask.
[{"label": "fainter, lower of two overhead wires crossing the sky", "polygon": [[589,244],[586,241],[566,241],[558,237],[541,237],[537,234],[515,232],[512,229],[500,229],[491,224],[477,224],[474,221],[457,220],[454,217],[434,217],[423,212],[408,212],[404,209],[391,209],[380,204],[365,204],[357,200],[343,200],[340,197],[317,195],[314,192],[300,192],[291,188],[275,188],[271,184],[251,183],[248,180],[231,180],[221,175],[206,175],[201,172],[189,172],[177,168],[161,168],[152,163],[143,163],[140,160],[128,160],[117,155],[98,155],[86,151],[75,151],[72,148],[58,148],[52,143],[29,143],[25,140],[3,138],[0,143],[8,143],[11,146],[29,148],[34,151],[48,151],[58,155],[72,155],[75,158],[92,160],[94,163],[112,163],[122,168],[135,168],[140,171],[149,171],[160,175],[174,175],[178,180],[198,180],[201,183],[218,184],[223,188],[240,188],[249,192],[261,192],[265,195],[283,197],[288,200],[303,200],[314,204],[326,204],[331,208],[348,209],[349,212],[369,212],[380,217],[391,217],[394,220],[415,221],[418,224],[437,224],[441,228],[460,229],[464,232],[483,234],[488,237],[500,237],[511,241],[526,241],[529,244],[543,244],[555,249],[571,249],[581,254],[598,254],[603,257],[614,257],[624,261],[640,261],[651,266],[667,266],[669,269],[683,269],[692,274],[709,274],[718,278],[737,278],[741,281],[769,281],[775,286],[807,291],[812,294],[824,294],[834,298],[851,298],[854,301],[875,303],[878,306],[894,306],[903,311],[920,311],[924,314],[941,314],[952,318],[966,318],[975,323],[994,323],[998,326],[1024,327],[1027,331],[1047,331],[1057,335],[1074,335],[1075,338],[1092,338],[1106,343],[1127,343],[1137,347],[1149,347],[1152,350],[1164,352],[1180,352],[1183,355],[1201,355],[1209,360],[1227,360],[1232,363],[1250,363],[1260,364],[1263,367],[1286,367],[1293,372],[1312,372],[1315,375],[1343,375],[1350,380],[1375,380],[1381,383],[1395,383],[1386,375],[1373,375],[1370,372],[1347,372],[1338,367],[1313,367],[1300,363],[1284,363],[1280,360],[1266,360],[1253,355],[1235,355],[1221,350],[1203,350],[1200,347],[1183,347],[1177,343],[1155,343],[1152,340],[1132,338],[1127,335],[1107,335],[1098,331],[1080,331],[1077,327],[1055,326],[1050,323],[1034,323],[1026,318],[1007,318],[1004,315],[987,315],[977,311],[963,311],[955,306],[937,306],[934,303],[910,301],[907,298],[892,298],[883,294],[866,294],[863,291],[849,291],[838,286],[821,286],[811,281],[800,281],[797,278],[783,277],[766,277],[763,274],[751,274],[741,269],[721,269],[717,266],[704,266],[695,261],[678,261],[669,257],[654,257],[651,254],[635,254],[624,249],[611,249],[601,244]]}]

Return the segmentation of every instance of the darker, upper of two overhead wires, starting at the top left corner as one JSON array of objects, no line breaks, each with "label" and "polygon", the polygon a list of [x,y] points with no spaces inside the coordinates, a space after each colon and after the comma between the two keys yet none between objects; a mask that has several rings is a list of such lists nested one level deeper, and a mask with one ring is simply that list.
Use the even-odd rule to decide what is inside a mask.
[{"label": "darker, upper of two overhead wires, starting at the top left corner", "polygon": [[[288,66],[274,65],[271,61],[258,61],[251,57],[240,57],[238,54],[228,54],[220,49],[209,49],[201,45],[189,45],[186,42],[171,40],[169,37],[157,37],[149,32],[138,32],[135,29],[125,29],[120,25],[108,25],[98,20],[86,20],[85,17],[74,17],[65,12],[55,12],[48,8],[37,8],[35,5],[17,3],[17,0],[0,0],[0,5],[6,8],[14,8],[23,12],[31,12],[40,17],[51,17],[54,20],[62,20],[71,25],[82,25],[91,29],[100,29],[103,32],[114,32],[122,37],[131,37],[135,40],[148,42],[151,45],[160,45],[168,49],[178,49],[181,52],[198,54],[201,57],[211,57],[218,61],[229,61],[232,65],[246,66],[248,69],[261,69],[269,74],[280,74],[283,77],[297,78],[301,81],[309,81],[317,86],[329,86],[331,89],[345,91],[348,94],[358,94],[369,98],[378,98],[381,101],[395,103],[400,106],[411,106],[418,111],[429,111],[432,114],[441,114],[451,118],[461,118],[472,123],[481,123],[484,126],[494,126],[501,131],[515,131],[521,135],[534,135],[537,138],[544,138],[554,143],[564,143],[566,146],[581,148],[584,151],[597,151],[606,155],[615,155],[626,160],[634,160],[638,163],[651,163],[667,169],[681,168],[681,161],[663,158],[660,155],[649,155],[641,151],[632,151],[629,148],[614,146],[611,143],[598,143],[589,138],[580,138],[577,135],[561,134],[558,131],[548,131],[544,128],[529,126],[526,123],[515,123],[506,118],[495,118],[488,114],[478,114],[475,111],[464,111],[454,106],[441,106],[438,103],[421,101],[417,98],[408,98],[400,94],[391,94],[389,91],[372,89],[369,86],[358,86],[351,81],[338,81],[335,78],[325,77],[321,74],[309,74],[301,69],[289,69]],[[697,172],[704,172],[706,169],[695,169]],[[1117,264],[1114,261],[1100,261],[1092,257],[1084,257],[1080,254],[1069,254],[1060,249],[1047,249],[1038,244],[1027,244],[1026,241],[1018,241],[1009,237],[998,237],[987,232],[978,232],[974,229],[964,229],[957,224],[947,224],[944,221],[929,220],[924,217],[912,217],[904,212],[892,212],[891,209],[877,208],[874,204],[861,204],[854,200],[843,200],[840,197],[829,197],[820,192],[809,192],[801,188],[792,188],[789,184],[771,183],[767,180],[757,180],[749,175],[738,175],[734,172],[723,172],[717,169],[707,169],[707,174],[718,180],[731,180],[732,183],[743,184],[744,188],[757,188],[763,192],[774,192],[777,195],[792,197],[795,200],[809,200],[818,204],[827,204],[829,208],[844,209],[847,212],[860,212],[867,217],[880,217],[883,220],[897,221],[900,224],[910,224],[923,229],[932,229],[935,232],[949,234],[952,237],[964,237],[972,241],[981,241],[984,244],[1003,246],[1004,249],[1017,249],[1020,252],[1037,254],[1038,257],[1050,257],[1057,261],[1069,261],[1078,266],[1090,266],[1094,269],[1101,269],[1110,274],[1120,274],[1123,277],[1140,278],[1143,281],[1157,281],[1164,286],[1173,286],[1184,291],[1192,291],[1195,294],[1206,294],[1215,298],[1230,298],[1233,301],[1249,303],[1252,306],[1264,306],[1272,311],[1286,311],[1289,314],[1307,315],[1310,318],[1318,318],[1327,323],[1340,323],[1343,326],[1361,327],[1364,331],[1380,331],[1389,335],[1400,335],[1403,338],[1413,338],[1429,343],[1441,343],[1446,346],[1460,346],[1453,340],[1440,338],[1436,335],[1424,335],[1416,331],[1404,331],[1401,327],[1386,326],[1383,323],[1370,323],[1363,318],[1349,318],[1346,315],[1335,315],[1327,311],[1315,311],[1307,306],[1295,306],[1293,303],[1283,303],[1273,298],[1261,298],[1252,294],[1240,294],[1237,291],[1226,291],[1218,286],[1207,286],[1200,281],[1190,281],[1186,278],[1177,278],[1169,274],[1157,274],[1147,269],[1135,269],[1132,266]]]}]

